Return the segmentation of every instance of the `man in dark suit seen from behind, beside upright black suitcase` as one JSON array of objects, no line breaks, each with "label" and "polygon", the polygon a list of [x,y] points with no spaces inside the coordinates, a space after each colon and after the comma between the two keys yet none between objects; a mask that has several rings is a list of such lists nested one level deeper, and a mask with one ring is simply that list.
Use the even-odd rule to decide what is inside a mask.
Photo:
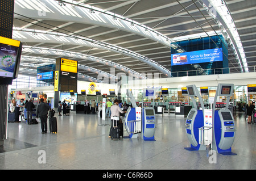
[{"label": "man in dark suit seen from behind, beside upright black suitcase", "polygon": [[36,117],[40,117],[42,134],[47,133],[47,115],[48,111],[51,110],[51,107],[44,102],[44,99],[40,99],[40,104],[36,109]]}]

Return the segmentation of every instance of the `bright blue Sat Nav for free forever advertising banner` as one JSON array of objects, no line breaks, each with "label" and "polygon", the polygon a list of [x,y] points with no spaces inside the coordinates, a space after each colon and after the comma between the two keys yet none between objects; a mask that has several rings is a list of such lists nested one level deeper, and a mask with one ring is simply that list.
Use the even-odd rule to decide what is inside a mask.
[{"label": "bright blue Sat Nav for free forever advertising banner", "polygon": [[200,64],[223,61],[222,48],[171,54],[171,65]]}]

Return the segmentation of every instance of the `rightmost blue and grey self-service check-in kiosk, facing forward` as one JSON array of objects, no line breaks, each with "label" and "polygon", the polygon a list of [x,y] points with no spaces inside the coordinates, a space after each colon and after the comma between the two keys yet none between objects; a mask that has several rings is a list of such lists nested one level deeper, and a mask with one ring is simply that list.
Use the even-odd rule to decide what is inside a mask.
[{"label": "rightmost blue and grey self-service check-in kiosk, facing forward", "polygon": [[[231,146],[235,137],[235,125],[232,112],[229,110],[229,99],[233,94],[233,84],[220,83],[213,102],[213,141],[212,148],[217,153],[231,153]],[[218,96],[226,96],[226,106],[216,110]]]}]

